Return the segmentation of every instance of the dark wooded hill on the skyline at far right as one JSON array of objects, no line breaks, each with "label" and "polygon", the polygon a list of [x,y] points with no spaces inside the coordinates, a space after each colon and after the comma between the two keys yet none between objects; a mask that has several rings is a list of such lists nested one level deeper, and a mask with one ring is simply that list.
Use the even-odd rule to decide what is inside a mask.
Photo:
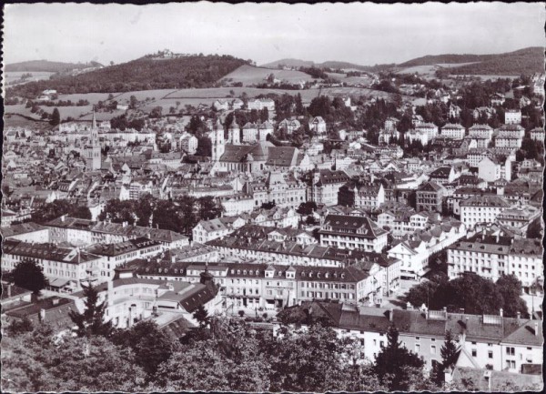
[{"label": "dark wooded hill on the skyline at far right", "polygon": [[497,55],[435,55],[423,56],[398,65],[399,67],[432,66],[471,63],[450,67],[450,74],[472,75],[531,75],[544,70],[544,48],[531,46]]}]

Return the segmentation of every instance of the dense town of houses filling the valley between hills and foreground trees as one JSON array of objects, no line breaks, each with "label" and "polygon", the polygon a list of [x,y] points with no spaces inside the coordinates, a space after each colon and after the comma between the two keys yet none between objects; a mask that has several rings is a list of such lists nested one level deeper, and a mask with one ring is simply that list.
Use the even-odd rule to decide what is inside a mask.
[{"label": "dense town of houses filling the valley between hills and foreground trees", "polygon": [[[456,119],[451,98],[442,89],[432,100],[450,103]],[[474,117],[492,115],[504,100],[491,96]],[[184,116],[150,119],[140,131],[112,128],[95,114],[49,134],[5,130],[2,270],[35,261],[52,297],[30,300],[25,289],[3,284],[4,321],[53,319],[67,328],[68,312],[84,308],[83,286],[93,284],[120,328],[155,319],[176,336],[196,324],[200,306],[227,313],[305,305],[340,335],[358,338],[369,359],[396,322],[403,344],[429,367],[440,360],[447,329],[458,335],[462,366],[541,364],[537,320],[379,308],[403,281],[425,278],[442,251],[449,278],[510,274],[526,293],[542,288],[543,249],[530,234],[543,228],[543,164],[516,160],[516,152],[527,137],[543,144],[544,130],[521,126],[521,110],[507,110],[494,129],[455,120],[439,127],[413,114],[400,133],[390,116],[372,145],[365,130],[339,130],[329,140],[322,116],[275,119],[269,98],[218,99],[212,107],[218,117],[199,118],[207,127],[199,137]],[[265,121],[223,123],[230,111],[264,108]],[[299,147],[271,142],[302,127],[313,136]],[[434,149],[411,157],[393,138]],[[187,234],[98,220],[108,201],[148,194],[213,197],[222,213]],[[91,218],[31,221],[56,200],[89,208]]]}]

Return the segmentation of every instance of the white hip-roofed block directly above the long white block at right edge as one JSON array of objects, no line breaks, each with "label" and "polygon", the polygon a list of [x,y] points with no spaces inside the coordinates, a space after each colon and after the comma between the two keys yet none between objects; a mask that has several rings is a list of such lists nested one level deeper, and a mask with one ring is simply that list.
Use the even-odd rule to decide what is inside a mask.
[{"label": "white hip-roofed block directly above the long white block at right edge", "polygon": [[510,204],[499,196],[473,196],[460,201],[459,207],[460,221],[467,228],[474,228],[480,223],[494,223]]}]

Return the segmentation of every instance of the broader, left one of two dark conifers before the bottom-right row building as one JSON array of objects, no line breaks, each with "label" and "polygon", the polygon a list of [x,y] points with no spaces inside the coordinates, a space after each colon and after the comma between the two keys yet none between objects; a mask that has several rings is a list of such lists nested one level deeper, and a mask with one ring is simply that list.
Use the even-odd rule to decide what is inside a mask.
[{"label": "broader, left one of two dark conifers before the bottom-right row building", "polygon": [[422,369],[423,360],[399,342],[399,331],[392,325],[387,332],[387,346],[379,351],[376,358],[375,372],[379,380],[387,383],[390,391],[408,390],[410,388],[409,370],[407,367]]}]

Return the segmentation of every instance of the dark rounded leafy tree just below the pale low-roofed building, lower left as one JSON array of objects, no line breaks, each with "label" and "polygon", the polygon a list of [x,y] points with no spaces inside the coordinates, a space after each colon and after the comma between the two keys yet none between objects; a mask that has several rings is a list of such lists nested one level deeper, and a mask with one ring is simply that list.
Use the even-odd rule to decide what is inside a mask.
[{"label": "dark rounded leafy tree just below the pale low-roofed building, lower left", "polygon": [[112,342],[132,349],[136,364],[144,369],[148,380],[154,377],[159,365],[170,358],[173,348],[172,340],[151,320],[139,321],[129,329],[117,330]]}]

